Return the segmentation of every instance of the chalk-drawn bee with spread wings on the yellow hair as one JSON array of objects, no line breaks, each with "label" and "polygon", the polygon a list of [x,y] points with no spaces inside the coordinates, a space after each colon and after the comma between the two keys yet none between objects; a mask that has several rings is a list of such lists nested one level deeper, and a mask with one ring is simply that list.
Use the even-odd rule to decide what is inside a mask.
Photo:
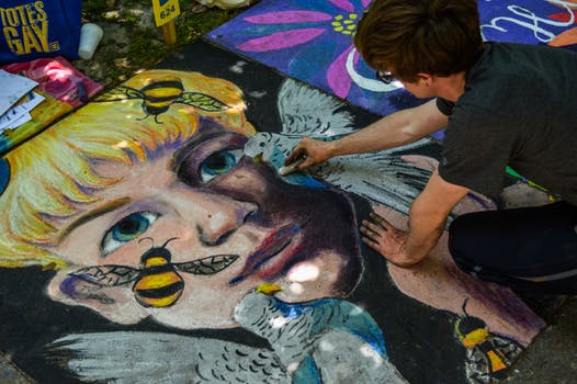
[{"label": "chalk-drawn bee with spread wings on the yellow hair", "polygon": [[155,116],[159,123],[158,115],[168,111],[172,104],[186,104],[207,112],[220,112],[229,109],[222,101],[201,92],[184,92],[182,81],[174,76],[166,76],[150,81],[142,89],[120,86],[95,99],[95,101],[121,101],[128,99],[142,99],[143,111],[146,113],[142,120]]}]

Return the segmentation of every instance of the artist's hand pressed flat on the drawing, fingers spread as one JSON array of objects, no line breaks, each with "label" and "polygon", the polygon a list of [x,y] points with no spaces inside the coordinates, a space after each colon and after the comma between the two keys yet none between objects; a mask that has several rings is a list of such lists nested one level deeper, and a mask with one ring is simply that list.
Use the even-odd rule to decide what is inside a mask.
[{"label": "artist's hand pressed flat on the drawing, fingers spread", "polygon": [[371,219],[361,225],[364,244],[398,267],[411,267],[420,261],[405,255],[408,231],[396,228],[374,212]]}]

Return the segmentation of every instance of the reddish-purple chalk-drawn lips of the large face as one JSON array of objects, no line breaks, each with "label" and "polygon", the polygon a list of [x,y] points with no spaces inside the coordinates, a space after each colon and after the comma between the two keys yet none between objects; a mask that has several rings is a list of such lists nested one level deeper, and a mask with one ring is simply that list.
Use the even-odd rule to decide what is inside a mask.
[{"label": "reddish-purple chalk-drawn lips of the large face", "polygon": [[[245,280],[249,274],[258,271],[267,262],[269,262],[274,257],[284,253],[281,262],[276,263],[275,268],[267,268],[267,271],[260,271],[260,278],[268,278],[278,273],[284,266],[284,261],[288,260],[294,251],[291,251],[290,248],[295,248],[296,244],[293,241],[295,236],[299,233],[299,227],[291,224],[284,227],[280,227],[271,231],[259,245],[259,247],[247,258],[245,268],[240,273],[231,279],[228,283],[234,285],[242,280]],[[287,250],[286,252],[283,252]]]}]

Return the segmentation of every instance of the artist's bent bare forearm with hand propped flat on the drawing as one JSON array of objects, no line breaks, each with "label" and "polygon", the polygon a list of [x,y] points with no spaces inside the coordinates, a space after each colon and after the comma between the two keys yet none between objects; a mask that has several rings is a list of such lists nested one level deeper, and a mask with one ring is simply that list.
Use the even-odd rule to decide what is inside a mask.
[{"label": "artist's bent bare forearm with hand propped flat on the drawing", "polygon": [[410,207],[409,230],[391,225],[371,214],[374,223],[363,221],[363,241],[399,267],[411,267],[429,255],[444,230],[449,213],[469,190],[444,181],[437,171]]}]

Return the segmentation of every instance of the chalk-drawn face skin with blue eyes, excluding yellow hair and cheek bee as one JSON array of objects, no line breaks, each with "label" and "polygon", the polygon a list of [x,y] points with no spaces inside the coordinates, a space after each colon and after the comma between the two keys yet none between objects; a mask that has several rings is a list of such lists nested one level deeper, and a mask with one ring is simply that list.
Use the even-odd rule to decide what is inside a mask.
[{"label": "chalk-drawn face skin with blue eyes, excluding yellow hair and cheek bee", "polygon": [[[182,296],[169,308],[139,305],[129,284],[98,285],[78,273],[61,273],[50,293],[116,321],[150,315],[183,328],[233,325],[231,310],[260,282],[283,286],[293,301],[347,293],[360,274],[348,197],[285,183],[269,165],[240,156],[246,142],[205,120],[186,145],[154,161],[99,165],[99,174],[122,181],[66,223],[57,247],[75,266],[135,268],[151,247],[139,240],[149,238],[158,247],[171,239],[163,248],[172,263],[224,255],[229,262],[210,273],[180,272]],[[131,310],[134,317],[126,316]]]}]

